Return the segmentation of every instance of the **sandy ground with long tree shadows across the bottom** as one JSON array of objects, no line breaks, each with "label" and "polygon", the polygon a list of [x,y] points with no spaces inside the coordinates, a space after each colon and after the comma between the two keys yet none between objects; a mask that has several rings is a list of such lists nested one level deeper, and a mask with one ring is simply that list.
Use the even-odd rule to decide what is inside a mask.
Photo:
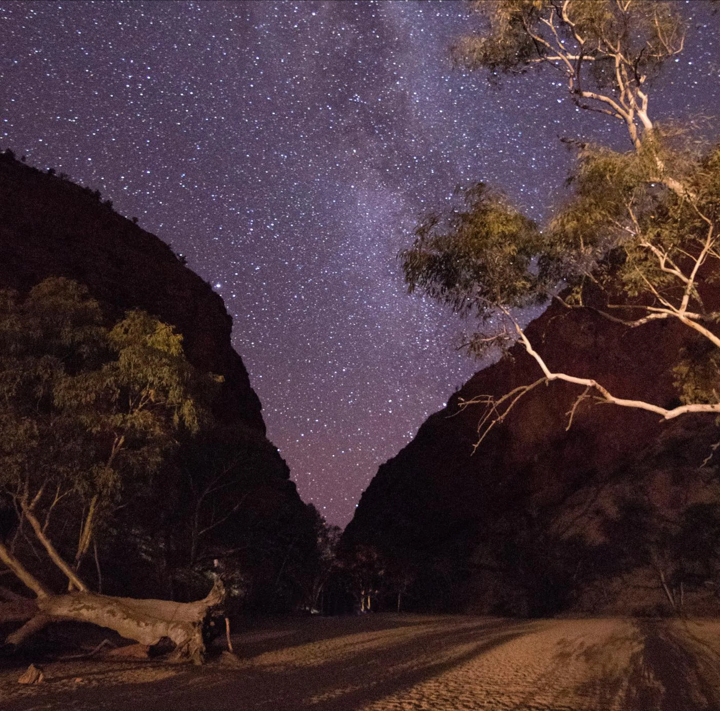
[{"label": "sandy ground with long tree shadows across the bottom", "polygon": [[[720,710],[720,620],[369,615],[280,620],[202,668],[101,659],[0,669],[0,709]],[[234,662],[234,663],[233,663]]]}]

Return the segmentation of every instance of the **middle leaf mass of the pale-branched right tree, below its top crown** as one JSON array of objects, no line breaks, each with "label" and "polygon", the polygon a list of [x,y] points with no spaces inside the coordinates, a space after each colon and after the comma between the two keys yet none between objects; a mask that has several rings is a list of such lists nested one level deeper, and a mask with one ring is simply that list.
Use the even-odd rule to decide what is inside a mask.
[{"label": "middle leaf mass of the pale-branched right tree, below its top crown", "polygon": [[[485,323],[559,290],[567,305],[582,305],[589,284],[603,290],[608,302],[629,308],[679,308],[685,282],[678,272],[690,274],[690,260],[700,259],[706,246],[708,220],[714,224],[720,214],[718,153],[712,148],[698,157],[668,148],[661,130],[641,151],[582,146],[569,181],[572,197],[543,230],[477,184],[460,209],[420,221],[413,246],[400,254],[405,282],[410,292],[420,290]],[[663,184],[658,156],[667,171],[683,176],[693,200]],[[696,282],[715,280],[718,266],[719,254],[710,249]],[[697,284],[689,296],[687,308],[702,312],[706,321],[718,318],[705,308]],[[469,349],[479,352],[483,344],[498,342],[483,325]]]}]

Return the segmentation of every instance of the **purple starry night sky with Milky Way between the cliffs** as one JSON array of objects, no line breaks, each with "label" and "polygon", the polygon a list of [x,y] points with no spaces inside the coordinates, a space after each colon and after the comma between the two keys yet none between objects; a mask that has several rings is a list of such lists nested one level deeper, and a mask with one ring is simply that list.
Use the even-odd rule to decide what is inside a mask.
[{"label": "purple starry night sky with Milky Way between the cliffs", "polygon": [[[655,119],[719,105],[719,18],[678,4]],[[456,1],[0,0],[0,148],[100,189],[222,295],[269,438],[331,523],[478,367],[453,348],[471,325],[402,285],[417,215],[482,179],[541,219],[560,135],[624,145],[550,68],[499,91],[452,71],[473,23]]]}]

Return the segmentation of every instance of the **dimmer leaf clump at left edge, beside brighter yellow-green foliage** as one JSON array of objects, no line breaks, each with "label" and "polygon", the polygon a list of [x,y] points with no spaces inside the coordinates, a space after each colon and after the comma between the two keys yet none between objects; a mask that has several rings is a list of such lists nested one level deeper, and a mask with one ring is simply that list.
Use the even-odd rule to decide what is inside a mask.
[{"label": "dimmer leaf clump at left edge, beside brighter yellow-green foliage", "polygon": [[[27,480],[36,473],[62,479],[89,464],[87,443],[69,436],[71,421],[53,398],[71,373],[99,359],[102,316],[81,287],[65,280],[42,282],[24,302],[2,292],[0,308],[0,480],[29,496]],[[42,446],[48,438],[52,451]]]}]

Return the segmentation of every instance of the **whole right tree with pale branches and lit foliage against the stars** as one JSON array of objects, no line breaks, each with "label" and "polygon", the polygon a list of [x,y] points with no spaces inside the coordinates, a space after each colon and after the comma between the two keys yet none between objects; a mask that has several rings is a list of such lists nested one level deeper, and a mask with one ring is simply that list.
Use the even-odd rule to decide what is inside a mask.
[{"label": "whole right tree with pale branches and lit foliage against the stars", "polygon": [[[500,0],[471,3],[481,26],[451,48],[456,66],[491,81],[546,67],[578,109],[604,115],[627,139],[626,150],[572,141],[577,163],[572,197],[536,225],[484,184],[464,204],[426,215],[413,246],[401,253],[410,291],[479,318],[467,341],[475,354],[516,342],[541,377],[487,406],[480,441],[518,399],[541,383],[578,387],[587,398],[639,408],[670,420],[720,412],[720,312],[703,298],[718,277],[720,146],[689,126],[654,118],[652,85],[685,45],[675,2],[642,0]],[[588,295],[593,294],[592,303]],[[600,298],[598,298],[600,295]],[[639,328],[670,320],[700,341],[675,365],[677,406],[626,399],[592,377],[555,372],[518,322],[518,309],[554,298],[592,307],[604,318]],[[706,303],[707,302],[707,303]],[[638,356],[640,357],[640,355]],[[479,444],[479,442],[478,442]],[[477,446],[477,445],[476,445]]]}]

